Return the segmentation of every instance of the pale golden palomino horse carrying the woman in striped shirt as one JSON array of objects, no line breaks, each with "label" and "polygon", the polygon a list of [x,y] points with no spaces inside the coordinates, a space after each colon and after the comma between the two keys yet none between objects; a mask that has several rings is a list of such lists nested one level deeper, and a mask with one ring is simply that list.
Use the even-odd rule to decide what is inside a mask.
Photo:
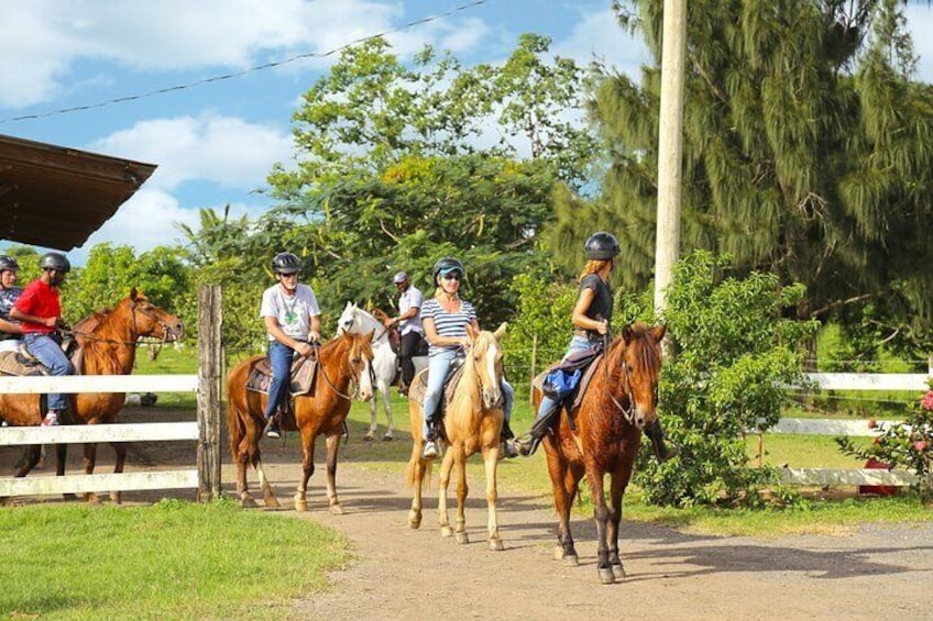
[{"label": "pale golden palomino horse carrying the woman in striped shirt", "polygon": [[[486,473],[486,506],[489,508],[489,546],[490,550],[504,550],[498,534],[496,519],[496,467],[500,457],[500,434],[504,413],[502,410],[502,348],[498,344],[505,334],[506,324],[493,332],[474,333],[472,328],[466,331],[473,345],[466,352],[463,363],[463,374],[454,388],[453,396],[447,404],[443,418],[444,432],[450,447],[443,454],[440,466],[438,491],[438,522],[441,535],[457,535],[458,543],[468,543],[466,519],[463,514],[466,504],[466,457],[480,452]],[[411,386],[413,392],[424,388],[419,380]],[[407,481],[414,488],[411,510],[408,512],[408,525],[417,529],[421,525],[421,489],[425,479],[430,478],[431,463],[421,458],[421,407],[419,395],[410,393],[408,412],[411,417],[411,457],[408,459]],[[457,466],[457,528],[450,529],[447,515],[447,487],[450,483],[450,470]]]}]

